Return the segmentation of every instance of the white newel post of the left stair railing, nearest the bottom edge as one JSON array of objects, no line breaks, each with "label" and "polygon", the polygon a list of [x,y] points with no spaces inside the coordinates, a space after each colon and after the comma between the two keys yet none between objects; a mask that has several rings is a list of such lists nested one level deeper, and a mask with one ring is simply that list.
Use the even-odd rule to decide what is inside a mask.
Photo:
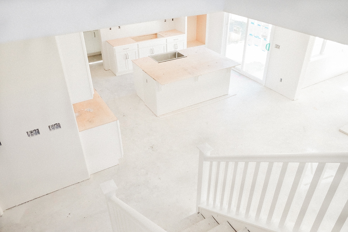
[{"label": "white newel post of the left stair railing, nearest the bottom edge", "polygon": [[106,181],[102,184],[99,185],[103,191],[103,194],[106,198],[106,205],[108,206],[108,210],[109,210],[109,217],[110,217],[110,222],[111,222],[111,227],[112,227],[112,231],[118,231],[117,230],[117,222],[116,222],[116,215],[113,208],[112,208],[112,203],[110,203],[111,201],[111,197],[116,197],[116,190],[118,189],[115,182],[113,181],[113,179],[111,179],[110,181]]}]

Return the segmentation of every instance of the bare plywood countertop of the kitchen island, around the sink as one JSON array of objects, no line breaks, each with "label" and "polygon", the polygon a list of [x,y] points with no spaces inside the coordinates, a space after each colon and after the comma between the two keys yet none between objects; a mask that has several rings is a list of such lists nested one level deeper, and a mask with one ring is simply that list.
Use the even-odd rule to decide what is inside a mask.
[{"label": "bare plywood countertop of the kitchen island, around the sink", "polygon": [[187,48],[179,52],[187,57],[161,63],[157,63],[150,57],[132,61],[161,85],[239,65],[236,61],[203,46]]}]

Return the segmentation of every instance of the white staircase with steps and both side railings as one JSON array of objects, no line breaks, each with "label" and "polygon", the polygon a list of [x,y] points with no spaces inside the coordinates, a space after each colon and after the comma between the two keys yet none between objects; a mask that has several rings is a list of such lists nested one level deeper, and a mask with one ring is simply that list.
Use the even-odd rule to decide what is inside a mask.
[{"label": "white staircase with steps and both side railings", "polygon": [[[198,146],[197,210],[168,231],[101,184],[113,232],[348,231],[348,152],[210,155]],[[248,229],[246,229],[246,227]]]}]

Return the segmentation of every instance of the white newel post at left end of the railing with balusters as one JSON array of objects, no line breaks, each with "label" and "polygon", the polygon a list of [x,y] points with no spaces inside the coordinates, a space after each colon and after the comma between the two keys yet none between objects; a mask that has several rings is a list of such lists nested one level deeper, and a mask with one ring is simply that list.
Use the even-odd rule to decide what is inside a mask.
[{"label": "white newel post at left end of the railing with balusters", "polygon": [[203,162],[205,160],[205,157],[210,155],[210,152],[213,149],[213,147],[209,146],[207,143],[203,143],[197,146],[199,150],[199,157],[198,157],[198,181],[197,181],[197,201],[196,201],[196,211],[199,213],[198,206],[201,203],[201,195],[202,195],[202,178],[203,178]]}]

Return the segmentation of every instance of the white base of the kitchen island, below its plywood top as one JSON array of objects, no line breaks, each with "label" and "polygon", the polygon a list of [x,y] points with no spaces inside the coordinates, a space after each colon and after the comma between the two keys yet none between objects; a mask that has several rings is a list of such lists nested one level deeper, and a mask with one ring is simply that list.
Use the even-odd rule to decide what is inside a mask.
[{"label": "white base of the kitchen island, below its plywood top", "polygon": [[133,65],[136,94],[160,116],[228,94],[231,67],[165,85]]}]

